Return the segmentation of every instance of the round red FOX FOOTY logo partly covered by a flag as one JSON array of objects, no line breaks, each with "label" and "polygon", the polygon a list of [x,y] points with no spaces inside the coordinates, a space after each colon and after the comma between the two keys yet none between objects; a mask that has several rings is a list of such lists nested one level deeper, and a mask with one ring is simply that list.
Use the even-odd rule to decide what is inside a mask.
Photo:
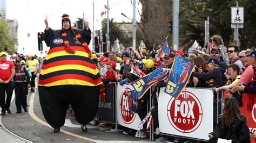
[{"label": "round red FOX FOOTY logo partly covered by a flag", "polygon": [[[120,111],[121,111],[121,118],[124,122],[124,124],[131,124],[132,121],[135,119],[136,117],[136,113],[130,113],[130,109],[129,109],[129,99],[128,99],[128,95],[127,92],[131,91],[130,88],[125,88],[125,90],[122,93],[122,96],[120,98]],[[131,92],[129,92],[130,94]]]}]

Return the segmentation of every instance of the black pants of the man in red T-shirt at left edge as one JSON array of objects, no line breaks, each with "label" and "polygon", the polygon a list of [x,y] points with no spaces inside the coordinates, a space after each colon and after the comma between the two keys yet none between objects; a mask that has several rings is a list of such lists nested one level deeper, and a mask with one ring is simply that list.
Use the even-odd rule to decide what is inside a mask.
[{"label": "black pants of the man in red T-shirt at left edge", "polygon": [[[0,105],[2,111],[6,111],[11,105],[12,91],[14,90],[14,82],[10,81],[8,84],[0,83]],[[6,92],[6,101],[5,101]]]}]

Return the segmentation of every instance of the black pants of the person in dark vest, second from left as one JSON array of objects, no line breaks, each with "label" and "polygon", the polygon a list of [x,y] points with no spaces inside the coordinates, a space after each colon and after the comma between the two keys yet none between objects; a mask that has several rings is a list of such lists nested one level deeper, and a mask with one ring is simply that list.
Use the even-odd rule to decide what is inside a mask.
[{"label": "black pants of the person in dark vest, second from left", "polygon": [[15,89],[15,104],[17,111],[21,111],[21,106],[26,108],[26,92],[28,91],[28,84],[23,83],[14,83]]}]

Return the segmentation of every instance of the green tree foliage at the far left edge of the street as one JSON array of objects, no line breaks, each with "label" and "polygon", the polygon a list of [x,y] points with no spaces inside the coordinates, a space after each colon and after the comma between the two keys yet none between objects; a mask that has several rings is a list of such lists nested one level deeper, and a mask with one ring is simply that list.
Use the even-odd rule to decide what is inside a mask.
[{"label": "green tree foliage at the far left edge of the street", "polygon": [[9,30],[8,23],[0,18],[0,51],[4,51],[4,45],[8,45],[8,52],[17,52],[17,38]]}]

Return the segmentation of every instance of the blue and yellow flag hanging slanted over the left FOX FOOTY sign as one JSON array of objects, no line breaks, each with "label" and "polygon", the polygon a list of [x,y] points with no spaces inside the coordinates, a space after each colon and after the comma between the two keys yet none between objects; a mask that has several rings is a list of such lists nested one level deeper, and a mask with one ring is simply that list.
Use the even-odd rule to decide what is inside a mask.
[{"label": "blue and yellow flag hanging slanted over the left FOX FOOTY sign", "polygon": [[167,78],[167,74],[163,71],[162,67],[136,81],[131,82],[131,85],[138,99],[140,99],[154,83],[165,80],[165,78]]}]

